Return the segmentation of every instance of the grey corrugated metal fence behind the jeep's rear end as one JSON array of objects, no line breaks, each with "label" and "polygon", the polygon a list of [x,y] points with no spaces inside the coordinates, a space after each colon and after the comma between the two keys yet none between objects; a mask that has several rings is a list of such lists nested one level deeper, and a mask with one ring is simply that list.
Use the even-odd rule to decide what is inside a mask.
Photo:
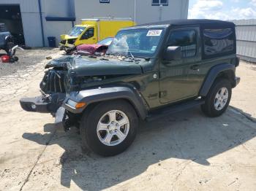
[{"label": "grey corrugated metal fence behind the jeep's rear end", "polygon": [[245,61],[256,63],[256,19],[232,22],[236,24],[237,54]]}]

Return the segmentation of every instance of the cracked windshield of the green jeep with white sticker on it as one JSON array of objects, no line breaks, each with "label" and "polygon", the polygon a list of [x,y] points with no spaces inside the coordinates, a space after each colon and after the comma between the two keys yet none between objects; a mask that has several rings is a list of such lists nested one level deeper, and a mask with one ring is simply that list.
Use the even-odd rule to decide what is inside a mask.
[{"label": "cracked windshield of the green jeep with white sticker on it", "polygon": [[163,28],[131,29],[119,31],[108,48],[107,54],[131,54],[138,57],[151,57],[156,52],[163,35]]}]

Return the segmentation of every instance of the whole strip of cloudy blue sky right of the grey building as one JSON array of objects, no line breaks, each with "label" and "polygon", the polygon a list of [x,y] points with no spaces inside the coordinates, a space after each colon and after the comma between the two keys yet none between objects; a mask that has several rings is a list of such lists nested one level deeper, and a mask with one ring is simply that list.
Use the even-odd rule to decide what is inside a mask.
[{"label": "whole strip of cloudy blue sky right of the grey building", "polygon": [[256,0],[189,0],[189,18],[256,19]]}]

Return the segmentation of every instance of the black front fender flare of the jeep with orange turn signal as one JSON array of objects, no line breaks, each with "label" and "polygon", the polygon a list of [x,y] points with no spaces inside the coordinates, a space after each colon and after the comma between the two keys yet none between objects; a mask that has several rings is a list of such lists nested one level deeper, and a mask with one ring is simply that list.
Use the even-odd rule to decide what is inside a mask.
[{"label": "black front fender flare of the jeep with orange turn signal", "polygon": [[79,114],[86,109],[86,106],[81,109],[72,108],[67,104],[68,99],[75,102],[84,102],[86,103],[86,106],[100,101],[124,99],[132,104],[141,119],[144,120],[148,114],[146,103],[143,101],[142,95],[140,95],[138,90],[132,87],[98,87],[95,89],[69,93],[63,106],[67,111]]}]

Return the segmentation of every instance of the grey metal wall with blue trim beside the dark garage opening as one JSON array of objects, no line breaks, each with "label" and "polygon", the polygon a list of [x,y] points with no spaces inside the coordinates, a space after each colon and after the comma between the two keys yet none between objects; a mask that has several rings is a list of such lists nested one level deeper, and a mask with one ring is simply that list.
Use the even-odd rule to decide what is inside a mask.
[{"label": "grey metal wall with blue trim beside the dark garage opening", "polygon": [[[48,36],[56,36],[59,42],[59,35],[69,31],[72,20],[75,21],[73,0],[0,0],[1,7],[7,12],[12,7],[20,8],[25,44],[31,47],[47,47]],[[1,22],[6,22],[10,28],[15,25],[11,17],[1,19],[0,16]]]}]

